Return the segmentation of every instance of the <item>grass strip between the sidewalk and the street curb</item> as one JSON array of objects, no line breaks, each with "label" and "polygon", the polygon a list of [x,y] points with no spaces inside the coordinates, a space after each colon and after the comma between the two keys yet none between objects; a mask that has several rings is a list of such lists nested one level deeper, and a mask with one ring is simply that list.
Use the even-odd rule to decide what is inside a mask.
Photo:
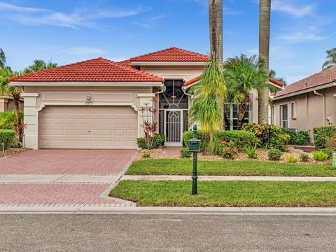
[{"label": "grass strip between the sidewalk and the street curb", "polygon": [[120,181],[110,196],[141,207],[336,207],[334,182]]}]

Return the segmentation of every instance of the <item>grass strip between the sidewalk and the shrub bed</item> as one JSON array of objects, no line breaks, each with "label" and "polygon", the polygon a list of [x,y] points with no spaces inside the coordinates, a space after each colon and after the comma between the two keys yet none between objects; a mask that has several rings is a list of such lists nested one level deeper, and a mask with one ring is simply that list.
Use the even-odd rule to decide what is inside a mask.
[{"label": "grass strip between the sidewalk and the shrub bed", "polygon": [[[199,161],[199,175],[245,176],[336,176],[332,165],[290,164],[262,161]],[[132,163],[127,175],[191,175],[193,160],[139,160]]]}]

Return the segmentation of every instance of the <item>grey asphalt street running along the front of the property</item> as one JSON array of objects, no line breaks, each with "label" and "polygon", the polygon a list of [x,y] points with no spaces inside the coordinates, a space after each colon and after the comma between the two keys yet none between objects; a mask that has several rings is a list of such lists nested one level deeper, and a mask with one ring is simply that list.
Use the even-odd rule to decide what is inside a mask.
[{"label": "grey asphalt street running along the front of the property", "polygon": [[335,216],[1,214],[1,251],[336,251]]}]

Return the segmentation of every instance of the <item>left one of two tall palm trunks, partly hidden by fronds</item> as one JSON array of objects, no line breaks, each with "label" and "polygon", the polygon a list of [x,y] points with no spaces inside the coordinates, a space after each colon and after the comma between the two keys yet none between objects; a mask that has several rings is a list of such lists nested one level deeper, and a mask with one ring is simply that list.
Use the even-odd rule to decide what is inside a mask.
[{"label": "left one of two tall palm trunks, partly hidden by fronds", "polygon": [[[210,51],[218,64],[223,64],[223,0],[209,0]],[[224,97],[220,101],[224,115]],[[221,125],[223,130],[224,123]]]}]

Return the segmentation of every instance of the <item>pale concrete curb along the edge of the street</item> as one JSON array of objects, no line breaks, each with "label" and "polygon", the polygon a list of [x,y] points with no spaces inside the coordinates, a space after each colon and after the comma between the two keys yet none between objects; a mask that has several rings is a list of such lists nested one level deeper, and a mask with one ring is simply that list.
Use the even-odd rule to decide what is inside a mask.
[{"label": "pale concrete curb along the edge of the street", "polygon": [[87,204],[69,206],[8,206],[0,214],[200,214],[336,216],[336,208],[323,207],[111,207]]}]

